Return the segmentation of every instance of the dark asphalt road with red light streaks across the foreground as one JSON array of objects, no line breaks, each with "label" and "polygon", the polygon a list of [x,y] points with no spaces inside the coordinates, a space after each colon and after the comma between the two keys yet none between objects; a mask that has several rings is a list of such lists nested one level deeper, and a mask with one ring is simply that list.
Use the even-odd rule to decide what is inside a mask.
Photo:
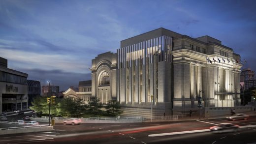
[{"label": "dark asphalt road with red light streaks across the foreground", "polygon": [[[223,122],[249,127],[222,134],[208,131],[209,127]],[[2,135],[0,144],[251,144],[256,143],[256,127],[251,125],[256,125],[256,116],[237,121],[220,118],[75,126],[59,123],[52,132]]]}]

